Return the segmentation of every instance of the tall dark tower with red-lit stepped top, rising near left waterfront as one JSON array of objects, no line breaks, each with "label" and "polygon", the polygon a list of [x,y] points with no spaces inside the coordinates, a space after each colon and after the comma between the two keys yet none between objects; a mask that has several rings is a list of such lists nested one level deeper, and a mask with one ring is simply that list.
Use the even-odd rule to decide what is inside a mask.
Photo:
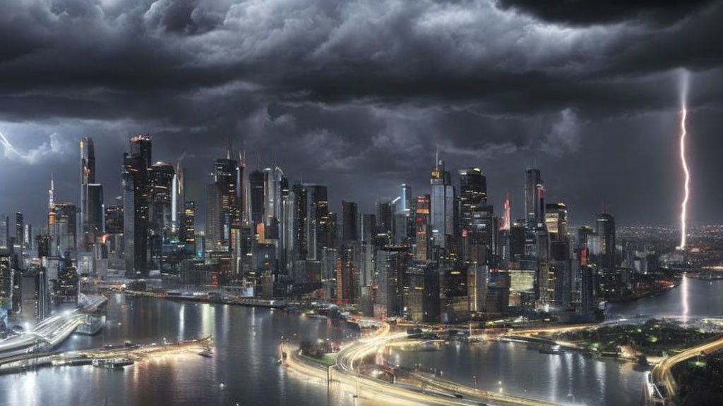
[{"label": "tall dark tower with red-lit stepped top, rising near left waterfront", "polygon": [[148,135],[130,139],[130,152],[123,157],[123,240],[127,277],[148,275],[148,169],[151,165]]}]

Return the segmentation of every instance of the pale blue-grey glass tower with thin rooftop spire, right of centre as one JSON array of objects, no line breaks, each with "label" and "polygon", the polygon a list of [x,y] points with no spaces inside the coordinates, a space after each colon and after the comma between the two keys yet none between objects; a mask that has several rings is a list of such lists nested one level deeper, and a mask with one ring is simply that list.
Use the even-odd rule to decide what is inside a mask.
[{"label": "pale blue-grey glass tower with thin rooftop spire, right of centre", "polygon": [[448,248],[447,240],[455,235],[455,189],[445,161],[437,160],[429,180],[432,186],[429,224],[436,246]]}]

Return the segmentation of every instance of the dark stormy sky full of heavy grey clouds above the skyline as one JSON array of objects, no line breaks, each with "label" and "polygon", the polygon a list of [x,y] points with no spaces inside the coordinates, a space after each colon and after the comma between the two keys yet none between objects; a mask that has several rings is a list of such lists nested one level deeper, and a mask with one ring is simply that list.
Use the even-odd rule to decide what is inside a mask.
[{"label": "dark stormy sky full of heavy grey clouds above the skyline", "polygon": [[[181,155],[202,200],[223,138],[249,168],[328,184],[372,210],[429,193],[435,150],[479,166],[491,202],[523,170],[573,223],[606,199],[623,224],[672,224],[688,72],[691,220],[721,223],[723,3],[612,0],[23,0],[0,12],[0,212],[40,223],[51,173],[80,196],[95,139],[106,203],[129,136]],[[202,217],[202,215],[201,215]]]}]

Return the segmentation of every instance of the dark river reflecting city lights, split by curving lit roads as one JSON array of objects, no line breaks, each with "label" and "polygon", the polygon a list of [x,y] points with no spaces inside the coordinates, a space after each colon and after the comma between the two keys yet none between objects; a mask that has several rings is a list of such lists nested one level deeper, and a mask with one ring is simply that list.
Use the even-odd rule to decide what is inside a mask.
[{"label": "dark river reflecting city lights, split by curving lit roads", "polygon": [[[723,281],[684,279],[655,297],[609,306],[620,316],[723,314]],[[108,323],[95,337],[73,335],[60,350],[187,340],[213,334],[215,356],[154,358],[124,371],[92,366],[44,368],[0,376],[0,405],[353,405],[348,394],[276,363],[281,335],[339,340],[343,324],[267,308],[111,295]],[[638,405],[643,374],[629,363],[540,354],[521,343],[444,345],[440,351],[393,351],[390,361],[421,363],[480,389],[570,405]],[[220,384],[225,384],[221,389]]]}]

